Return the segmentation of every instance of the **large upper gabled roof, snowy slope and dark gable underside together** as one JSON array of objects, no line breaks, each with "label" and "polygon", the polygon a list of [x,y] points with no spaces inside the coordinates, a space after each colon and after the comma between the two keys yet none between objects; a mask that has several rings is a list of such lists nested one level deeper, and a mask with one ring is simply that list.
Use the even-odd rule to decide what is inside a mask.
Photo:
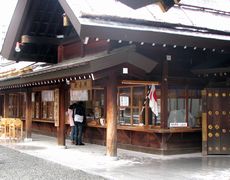
[{"label": "large upper gabled roof, snowy slope and dark gable underside together", "polygon": [[[80,41],[80,36],[81,40],[89,37],[210,48],[228,53],[229,6],[230,0],[181,0],[179,5],[163,13],[154,4],[132,9],[116,0],[20,0],[2,55],[18,61],[55,63],[57,46],[63,43],[57,38],[60,34],[77,41]],[[64,12],[72,23],[72,29],[65,29],[62,25]],[[31,43],[25,43],[22,51],[16,53],[15,44],[23,35],[31,38]]]}]

